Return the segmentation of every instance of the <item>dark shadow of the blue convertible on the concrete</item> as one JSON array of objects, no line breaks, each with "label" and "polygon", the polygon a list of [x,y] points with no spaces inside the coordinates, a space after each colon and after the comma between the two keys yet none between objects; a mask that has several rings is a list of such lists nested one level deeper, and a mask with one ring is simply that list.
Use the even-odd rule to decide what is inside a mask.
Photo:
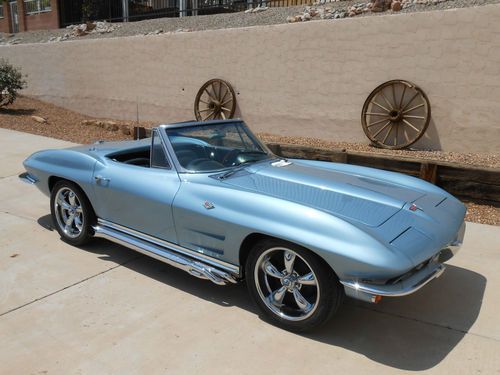
[{"label": "dark shadow of the blue convertible on the concrete", "polygon": [[[40,225],[51,228],[42,219]],[[239,307],[265,320],[244,283],[220,287],[103,239],[79,249],[200,299]],[[393,368],[427,370],[438,365],[472,327],[481,310],[486,282],[476,272],[447,265],[439,279],[410,296],[386,298],[377,305],[346,299],[330,322],[301,336]]]}]

